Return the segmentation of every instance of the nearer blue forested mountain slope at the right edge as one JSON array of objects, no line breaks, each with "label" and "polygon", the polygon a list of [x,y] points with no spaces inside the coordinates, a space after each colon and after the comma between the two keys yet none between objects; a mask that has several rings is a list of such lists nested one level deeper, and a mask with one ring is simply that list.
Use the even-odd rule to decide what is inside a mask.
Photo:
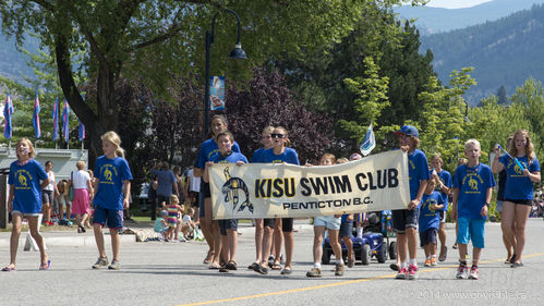
[{"label": "nearer blue forested mountain slope at the right edge", "polygon": [[504,85],[508,96],[527,78],[544,81],[544,4],[498,21],[421,37],[421,52],[431,49],[433,66],[447,84],[449,73],[474,66],[477,86],[468,93],[476,105]]}]

